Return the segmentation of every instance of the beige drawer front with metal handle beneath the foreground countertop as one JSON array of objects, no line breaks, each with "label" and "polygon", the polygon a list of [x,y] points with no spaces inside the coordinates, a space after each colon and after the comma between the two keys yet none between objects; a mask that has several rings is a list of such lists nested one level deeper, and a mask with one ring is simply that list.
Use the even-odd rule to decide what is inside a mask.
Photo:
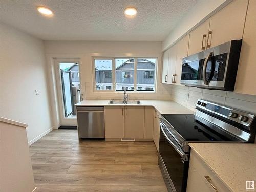
[{"label": "beige drawer front with metal handle beneath the foreground countertop", "polygon": [[[191,168],[189,168],[189,172],[195,171],[197,173],[199,180],[201,180],[204,183],[205,187],[208,188],[208,190],[206,191],[215,191],[215,189],[210,185],[205,176],[208,176],[210,178],[212,185],[216,187],[217,191],[230,191],[228,187],[215,175],[214,172],[212,172],[212,170],[203,162],[202,159],[200,159],[200,157],[193,150],[191,150],[190,154],[189,167],[190,166]],[[190,177],[191,173],[189,173],[188,176]],[[188,187],[193,186],[191,182],[196,182],[194,180],[194,178],[188,178]],[[188,191],[194,190],[189,189]]]}]

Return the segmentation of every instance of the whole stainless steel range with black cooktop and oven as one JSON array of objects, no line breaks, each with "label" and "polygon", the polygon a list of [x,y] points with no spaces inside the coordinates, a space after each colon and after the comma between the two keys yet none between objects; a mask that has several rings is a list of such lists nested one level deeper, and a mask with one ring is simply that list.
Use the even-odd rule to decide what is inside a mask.
[{"label": "whole stainless steel range with black cooktop and oven", "polygon": [[195,115],[161,115],[159,166],[168,191],[186,191],[189,142],[254,142],[254,115],[201,99],[196,109]]}]

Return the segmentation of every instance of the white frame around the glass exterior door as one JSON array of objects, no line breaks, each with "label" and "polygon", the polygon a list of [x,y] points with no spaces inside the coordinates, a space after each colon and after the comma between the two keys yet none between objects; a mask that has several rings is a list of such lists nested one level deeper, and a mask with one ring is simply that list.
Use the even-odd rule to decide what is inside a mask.
[{"label": "white frame around the glass exterior door", "polygon": [[[54,58],[54,72],[56,77],[56,90],[57,90],[57,102],[58,102],[58,111],[60,114],[60,122],[63,119],[76,119],[76,117],[65,117],[65,104],[63,99],[62,92],[62,81],[61,81],[61,73],[59,63],[78,63],[79,65],[79,82],[81,83],[81,75],[80,75],[80,59],[66,59],[66,58]],[[63,125],[63,123],[61,123]]]}]

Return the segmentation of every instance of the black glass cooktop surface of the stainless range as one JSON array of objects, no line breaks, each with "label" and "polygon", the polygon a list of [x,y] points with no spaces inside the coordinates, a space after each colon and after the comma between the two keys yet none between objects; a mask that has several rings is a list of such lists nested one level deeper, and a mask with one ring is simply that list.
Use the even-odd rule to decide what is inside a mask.
[{"label": "black glass cooktop surface of the stainless range", "polygon": [[239,142],[241,140],[218,132],[197,121],[195,115],[162,115],[187,142]]}]

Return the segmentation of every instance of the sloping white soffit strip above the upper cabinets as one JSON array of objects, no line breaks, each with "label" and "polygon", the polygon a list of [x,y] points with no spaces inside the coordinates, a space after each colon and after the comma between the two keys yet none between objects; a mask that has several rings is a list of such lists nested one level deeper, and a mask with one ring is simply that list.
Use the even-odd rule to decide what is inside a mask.
[{"label": "sloping white soffit strip above the upper cabinets", "polygon": [[198,0],[196,5],[187,12],[178,25],[163,41],[162,50],[166,50],[180,37],[202,23],[203,20],[226,6],[232,0]]}]

